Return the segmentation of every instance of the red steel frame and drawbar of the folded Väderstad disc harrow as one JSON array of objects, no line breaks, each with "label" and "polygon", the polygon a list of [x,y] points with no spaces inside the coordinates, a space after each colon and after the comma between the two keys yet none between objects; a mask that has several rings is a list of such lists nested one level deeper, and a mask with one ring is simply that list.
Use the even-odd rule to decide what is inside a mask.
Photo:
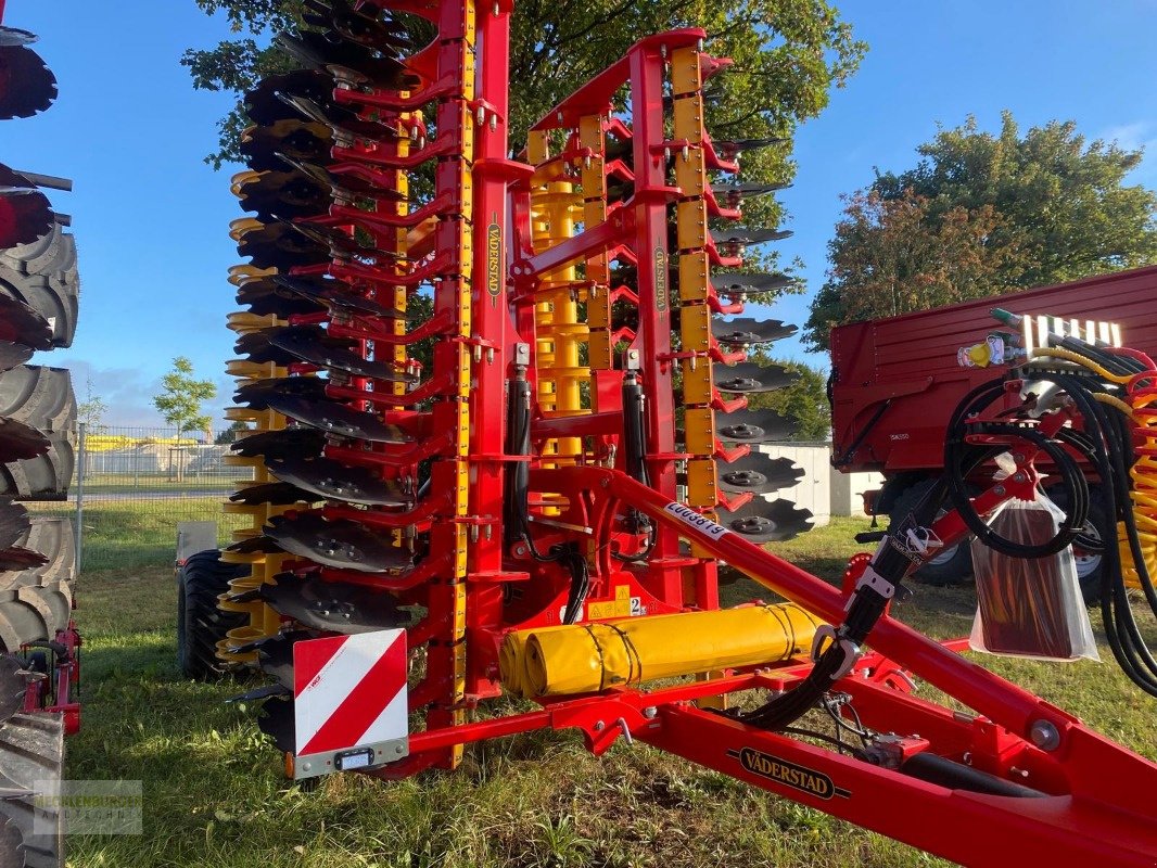
[{"label": "red steel frame and drawbar of the folded V\u00e4derstad disc harrow", "polygon": [[[0,0],[0,10],[2,10]],[[541,708],[486,721],[466,722],[465,711],[496,696],[501,685],[496,648],[511,628],[558,623],[557,596],[541,610],[511,624],[504,610],[504,588],[530,586],[532,579],[553,581],[529,559],[504,551],[502,534],[503,478],[507,464],[531,458],[531,492],[561,493],[552,502],[559,527],[590,529],[580,534],[588,547],[592,598],[607,594],[614,582],[641,583],[657,611],[684,608],[684,571],[695,571],[700,559],[681,558],[678,540],[694,551],[727,561],[768,589],[781,594],[831,624],[843,619],[847,590],[833,588],[803,569],[745,542],[734,532],[715,532],[690,524],[666,508],[677,502],[675,406],[671,395],[673,368],[670,346],[670,293],[668,282],[668,204],[679,190],[666,186],[663,72],[668,52],[693,46],[699,30],[679,30],[650,37],[561,103],[536,130],[578,130],[591,116],[607,117],[612,97],[625,83],[632,90],[632,130],[635,192],[628,203],[607,213],[605,222],[584,227],[568,241],[536,253],[530,243],[528,178],[536,169],[507,159],[507,66],[511,0],[479,9],[411,0],[396,7],[437,19],[440,36],[430,50],[415,56],[411,66],[427,82],[419,95],[383,96],[378,108],[410,111],[437,97],[437,145],[418,156],[334,154],[353,162],[375,163],[393,170],[417,164],[433,154],[440,161],[434,208],[440,222],[413,257],[429,252],[429,263],[408,274],[347,274],[382,281],[386,287],[413,287],[422,275],[441,275],[435,290],[437,331],[450,326],[450,338],[435,348],[434,377],[420,397],[449,388],[449,400],[434,405],[432,414],[400,411],[419,396],[364,392],[359,387],[331,387],[333,397],[381,405],[390,421],[408,426],[427,437],[423,448],[403,454],[331,449],[332,457],[377,463],[383,472],[411,466],[419,457],[437,455],[432,505],[405,515],[327,507],[326,515],[356,517],[383,532],[420,522],[429,528],[432,546],[426,561],[397,578],[367,576],[349,571],[325,569],[331,579],[356,581],[423,601],[429,615],[407,637],[410,647],[430,643],[428,671],[413,687],[412,706],[429,706],[427,728],[410,737],[410,757],[373,773],[396,778],[434,764],[452,766],[462,745],[541,728],[578,729],[588,748],[602,753],[620,737],[642,742],[720,770],[803,804],[825,810],[860,825],[905,840],[934,853],[967,863],[1007,865],[1031,852],[1036,861],[1051,866],[1093,863],[1151,866],[1157,862],[1157,765],[1115,745],[1084,727],[1076,718],[1055,708],[1016,685],[968,662],[957,652],[959,642],[937,643],[885,615],[871,632],[872,652],[837,682],[835,690],[852,697],[863,723],[900,734],[900,750],[928,750],[970,764],[1005,780],[1024,781],[1044,794],[1039,799],[982,795],[926,782],[892,768],[815,746],[784,734],[771,733],[713,713],[707,704],[747,690],[783,690],[805,677],[808,661],[778,669],[739,671],[650,692],[619,689],[597,696],[546,699]],[[473,44],[469,34],[474,30]],[[471,59],[471,50],[477,54]],[[476,93],[467,65],[478,72]],[[338,100],[370,105],[367,95],[338,91]],[[467,141],[469,139],[469,141]],[[709,142],[708,142],[709,147]],[[538,167],[539,169],[541,167]],[[444,170],[444,171],[443,171]],[[472,192],[460,184],[469,172]],[[472,198],[471,198],[472,196]],[[337,219],[338,215],[334,215]],[[381,214],[344,214],[344,220],[377,219],[378,226],[406,223],[414,215],[383,220]],[[407,223],[408,225],[408,223]],[[472,248],[467,243],[473,238]],[[465,262],[469,251],[469,262]],[[625,251],[634,251],[633,255]],[[414,252],[414,251],[411,251]],[[653,487],[609,466],[540,466],[532,456],[510,456],[506,444],[503,392],[511,374],[516,344],[533,346],[533,304],[540,275],[557,272],[576,260],[622,253],[638,265],[640,375],[648,389],[646,415],[647,458]],[[510,258],[509,266],[504,257]],[[464,309],[463,287],[470,285]],[[376,286],[376,285],[375,285]],[[511,324],[510,312],[514,311]],[[469,329],[465,324],[469,321]],[[406,336],[407,339],[413,333]],[[469,356],[469,359],[465,359]],[[450,376],[470,370],[467,393]],[[530,365],[533,374],[533,360]],[[607,372],[612,374],[612,372]],[[614,376],[598,389],[598,412],[573,418],[538,419],[533,437],[622,437],[621,413],[616,412]],[[610,383],[610,385],[607,385]],[[437,387],[437,388],[435,388]],[[605,387],[605,388],[604,388]],[[454,391],[454,390],[458,391]],[[444,391],[442,392],[444,395]],[[605,402],[604,402],[605,399]],[[442,432],[458,431],[469,420],[469,447],[455,447]],[[1026,450],[1027,453],[1027,450]],[[1037,483],[1031,453],[1016,484],[1005,483],[1001,496],[1027,495]],[[621,463],[620,463],[621,464]],[[463,465],[469,484],[462,481]],[[447,492],[469,492],[451,506]],[[455,496],[458,496],[456,494]],[[988,492],[978,501],[992,506],[1000,498]],[[613,562],[609,540],[624,536],[617,518],[627,509],[656,522],[659,531],[646,573]],[[959,517],[949,514],[934,525],[951,543],[963,532]],[[463,535],[469,537],[466,558]],[[544,532],[544,544],[566,539],[565,534]],[[862,565],[862,560],[857,561]],[[522,568],[525,567],[525,571]],[[540,569],[539,573],[532,571]],[[712,576],[713,579],[714,576]],[[849,579],[855,573],[849,567]],[[634,584],[632,586],[635,587]],[[411,596],[406,596],[411,595]],[[698,602],[698,601],[697,601]],[[713,598],[714,602],[714,598]],[[465,628],[459,633],[459,626]],[[950,693],[975,713],[953,712],[911,696],[907,671]],[[1041,738],[1041,733],[1049,737]],[[918,735],[919,734],[919,735]],[[756,762],[743,758],[756,757]],[[786,782],[774,767],[795,764],[830,789],[808,792]],[[945,823],[965,830],[945,830]],[[1031,849],[1030,849],[1031,848]]]}]

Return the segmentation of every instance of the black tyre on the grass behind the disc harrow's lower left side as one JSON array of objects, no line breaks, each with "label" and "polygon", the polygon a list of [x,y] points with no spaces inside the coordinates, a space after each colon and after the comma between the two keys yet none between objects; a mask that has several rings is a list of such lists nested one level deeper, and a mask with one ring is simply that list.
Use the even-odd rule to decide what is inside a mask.
[{"label": "black tyre on the grass behind the disc harrow's lower left side", "polygon": [[226,564],[213,549],[185,560],[177,573],[177,665],[187,677],[208,681],[221,675],[216,643],[249,619],[239,612],[218,609],[218,597],[229,582],[246,575],[245,564]]}]

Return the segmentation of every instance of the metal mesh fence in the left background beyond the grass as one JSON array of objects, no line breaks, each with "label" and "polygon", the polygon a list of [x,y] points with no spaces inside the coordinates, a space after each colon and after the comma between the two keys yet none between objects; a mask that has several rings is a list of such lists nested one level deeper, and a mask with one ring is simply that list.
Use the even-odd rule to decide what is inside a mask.
[{"label": "metal mesh fence in the left background beyond the grass", "polygon": [[84,572],[138,568],[172,561],[177,523],[214,521],[228,542],[245,516],[222,512],[252,469],[230,464],[234,432],[183,433],[171,428],[80,425],[68,499],[28,503],[37,514],[75,522]]}]

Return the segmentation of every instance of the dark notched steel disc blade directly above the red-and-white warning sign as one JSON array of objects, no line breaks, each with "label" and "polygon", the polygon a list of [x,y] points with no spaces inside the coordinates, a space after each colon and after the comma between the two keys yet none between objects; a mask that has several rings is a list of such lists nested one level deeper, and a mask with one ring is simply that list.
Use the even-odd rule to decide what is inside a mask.
[{"label": "dark notched steel disc blade directly above the red-and-white warning sign", "polygon": [[[404,626],[412,620],[410,612],[383,590],[349,582],[326,582],[315,576],[299,579],[293,573],[281,573],[274,581],[275,584],[261,586],[261,598],[278,613],[314,630],[370,633]],[[292,643],[286,645],[293,648]],[[275,649],[273,653],[278,654]]]}]

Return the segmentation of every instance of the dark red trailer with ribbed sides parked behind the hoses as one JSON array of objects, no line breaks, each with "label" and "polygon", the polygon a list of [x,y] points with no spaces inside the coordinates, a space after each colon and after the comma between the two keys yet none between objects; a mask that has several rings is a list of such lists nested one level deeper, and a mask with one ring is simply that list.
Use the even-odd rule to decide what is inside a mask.
[{"label": "dark red trailer with ribbed sides parked behind the hoses", "polygon": [[[1157,266],[833,329],[833,463],[845,473],[884,475],[883,488],[865,495],[869,513],[907,515],[943,471],[950,414],[968,390],[996,373],[961,367],[957,350],[998,328],[989,314],[994,307],[1119,323],[1128,346],[1157,353]],[[1100,514],[1095,523],[1098,532],[1108,528]],[[1078,552],[1077,565],[1089,597],[1098,587],[1100,558]],[[971,574],[967,546],[957,546],[919,575],[944,584]]]}]

